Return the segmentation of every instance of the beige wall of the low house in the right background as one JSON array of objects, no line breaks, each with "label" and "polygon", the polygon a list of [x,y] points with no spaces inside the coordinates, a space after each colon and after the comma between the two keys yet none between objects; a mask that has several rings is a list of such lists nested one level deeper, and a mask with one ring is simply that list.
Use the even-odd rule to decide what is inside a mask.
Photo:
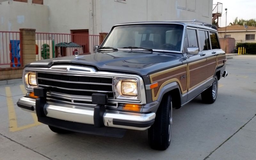
[{"label": "beige wall of the low house in the right background", "polygon": [[[236,39],[237,43],[256,43],[256,40],[245,40],[246,34],[256,34],[256,31],[227,31],[227,35],[231,35],[231,38]],[[219,32],[219,38],[224,38],[225,32]]]}]

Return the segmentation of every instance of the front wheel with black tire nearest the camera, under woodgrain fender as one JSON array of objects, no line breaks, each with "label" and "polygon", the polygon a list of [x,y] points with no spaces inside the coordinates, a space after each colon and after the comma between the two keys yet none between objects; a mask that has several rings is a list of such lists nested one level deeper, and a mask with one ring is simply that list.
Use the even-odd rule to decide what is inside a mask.
[{"label": "front wheel with black tire nearest the camera, under woodgrain fender", "polygon": [[148,129],[148,142],[152,149],[166,150],[171,143],[172,97],[164,95],[156,112],[154,124]]}]

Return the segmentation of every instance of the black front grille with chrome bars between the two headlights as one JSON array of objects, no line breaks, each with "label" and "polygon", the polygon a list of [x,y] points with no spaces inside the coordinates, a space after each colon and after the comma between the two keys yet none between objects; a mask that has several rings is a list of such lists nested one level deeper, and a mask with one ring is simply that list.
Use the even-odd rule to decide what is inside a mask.
[{"label": "black front grille with chrome bars between the two headlights", "polygon": [[[39,87],[44,87],[47,92],[60,93],[74,96],[92,96],[93,93],[105,93],[114,98],[113,78],[91,75],[68,73],[37,73]],[[63,97],[65,99],[65,97]]]}]

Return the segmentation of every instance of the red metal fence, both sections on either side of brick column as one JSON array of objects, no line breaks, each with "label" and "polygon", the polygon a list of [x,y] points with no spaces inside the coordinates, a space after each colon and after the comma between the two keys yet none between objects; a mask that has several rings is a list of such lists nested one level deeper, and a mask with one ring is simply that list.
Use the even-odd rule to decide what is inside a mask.
[{"label": "red metal fence, both sections on either side of brick column", "polygon": [[[22,66],[21,33],[0,31],[0,68]],[[31,39],[34,40],[34,39]],[[100,45],[99,35],[36,32],[36,60],[79,54],[89,54]]]}]

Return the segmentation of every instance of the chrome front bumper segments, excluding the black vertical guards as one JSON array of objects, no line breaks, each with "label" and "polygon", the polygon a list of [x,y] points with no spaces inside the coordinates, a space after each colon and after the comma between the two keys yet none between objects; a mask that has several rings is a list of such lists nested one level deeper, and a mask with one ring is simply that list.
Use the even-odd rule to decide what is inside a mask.
[{"label": "chrome front bumper segments, excluding the black vertical guards", "polygon": [[[22,97],[17,102],[17,105],[23,110],[36,113],[35,99]],[[47,102],[44,105],[44,114],[47,117],[65,121],[94,124],[94,108],[91,107],[80,107],[56,102]],[[108,127],[146,130],[154,123],[155,117],[155,113],[143,114],[106,110],[103,115],[103,122],[104,125]]]}]

